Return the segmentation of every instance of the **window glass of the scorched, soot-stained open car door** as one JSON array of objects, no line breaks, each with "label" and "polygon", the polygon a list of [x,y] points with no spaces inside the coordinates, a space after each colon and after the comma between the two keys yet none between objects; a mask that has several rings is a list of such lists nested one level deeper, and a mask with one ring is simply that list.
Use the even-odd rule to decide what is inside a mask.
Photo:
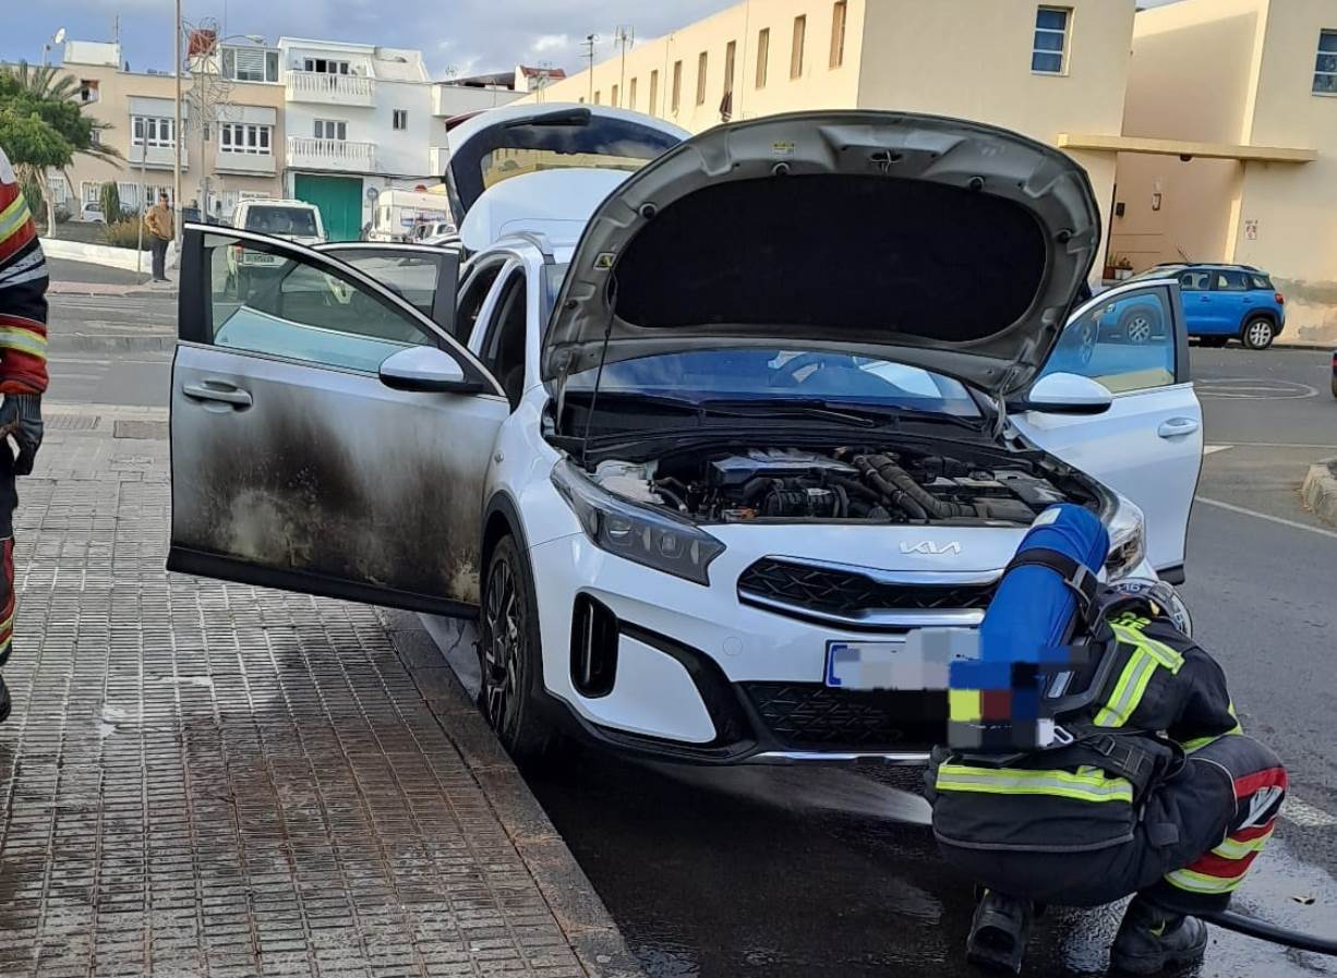
[{"label": "window glass of the scorched, soot-stained open car door", "polygon": [[205,239],[205,255],[217,346],[376,373],[393,353],[437,345],[409,313],[305,259],[223,235]]}]

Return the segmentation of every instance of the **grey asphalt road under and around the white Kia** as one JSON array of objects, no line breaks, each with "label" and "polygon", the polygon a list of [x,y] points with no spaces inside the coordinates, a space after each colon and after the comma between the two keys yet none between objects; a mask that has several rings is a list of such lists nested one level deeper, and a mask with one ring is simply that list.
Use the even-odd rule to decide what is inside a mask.
[{"label": "grey asphalt road under and around the white Kia", "polygon": [[[166,295],[55,297],[52,335],[170,333],[172,317]],[[53,339],[51,399],[167,402],[168,353],[62,349]],[[1298,496],[1309,462],[1337,456],[1328,363],[1321,351],[1194,350],[1209,454],[1185,593],[1298,800],[1239,903],[1334,934],[1337,530]],[[967,973],[969,884],[904,823],[920,814],[897,790],[915,790],[915,772],[702,772],[584,754],[525,774],[651,978]],[[1116,921],[1116,909],[1051,914],[1027,973],[1102,974]],[[1337,962],[1219,933],[1198,974],[1337,975]]]}]

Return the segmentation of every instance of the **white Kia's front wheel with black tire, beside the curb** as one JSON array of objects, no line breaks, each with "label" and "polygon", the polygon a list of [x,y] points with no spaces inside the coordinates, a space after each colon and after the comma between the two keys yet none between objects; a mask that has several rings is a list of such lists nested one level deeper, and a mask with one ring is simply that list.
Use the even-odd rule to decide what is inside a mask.
[{"label": "white Kia's front wheel with black tire, beside the curb", "polygon": [[539,632],[533,575],[513,537],[492,552],[483,588],[479,708],[516,760],[552,751],[556,734],[543,715],[543,639]]}]

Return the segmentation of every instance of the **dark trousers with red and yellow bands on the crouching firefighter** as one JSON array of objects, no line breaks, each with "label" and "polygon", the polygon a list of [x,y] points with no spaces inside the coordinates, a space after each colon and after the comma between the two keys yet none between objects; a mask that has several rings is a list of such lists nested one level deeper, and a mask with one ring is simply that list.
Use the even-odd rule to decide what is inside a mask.
[{"label": "dark trousers with red and yellow bands on the crouching firefighter", "polygon": [[1151,788],[1130,842],[1092,852],[939,846],[972,880],[1038,903],[1095,907],[1136,892],[1170,913],[1211,913],[1243,883],[1285,791],[1277,755],[1230,734],[1193,750],[1179,774]]}]

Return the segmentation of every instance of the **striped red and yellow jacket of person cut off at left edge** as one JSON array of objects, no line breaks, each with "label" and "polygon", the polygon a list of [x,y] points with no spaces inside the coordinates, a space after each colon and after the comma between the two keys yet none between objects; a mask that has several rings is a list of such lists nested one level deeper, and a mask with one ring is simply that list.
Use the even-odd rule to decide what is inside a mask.
[{"label": "striped red and yellow jacket of person cut off at left edge", "polygon": [[47,389],[47,267],[28,202],[0,151],[0,394]]}]

